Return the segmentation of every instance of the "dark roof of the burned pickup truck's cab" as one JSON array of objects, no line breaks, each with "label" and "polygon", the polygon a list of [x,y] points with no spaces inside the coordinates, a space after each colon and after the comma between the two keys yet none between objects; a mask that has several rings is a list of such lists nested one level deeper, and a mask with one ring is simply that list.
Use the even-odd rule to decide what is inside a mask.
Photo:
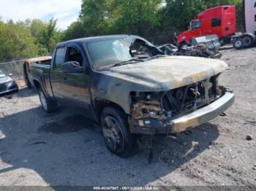
[{"label": "dark roof of the burned pickup truck's cab", "polygon": [[72,39],[66,42],[60,42],[56,44],[56,46],[60,46],[63,44],[67,43],[72,43],[72,42],[96,42],[98,40],[102,39],[120,39],[120,38],[125,38],[125,37],[135,37],[141,39],[140,36],[135,36],[135,35],[129,35],[129,34],[117,34],[117,35],[106,35],[106,36],[92,36],[92,37],[86,37],[82,39]]}]

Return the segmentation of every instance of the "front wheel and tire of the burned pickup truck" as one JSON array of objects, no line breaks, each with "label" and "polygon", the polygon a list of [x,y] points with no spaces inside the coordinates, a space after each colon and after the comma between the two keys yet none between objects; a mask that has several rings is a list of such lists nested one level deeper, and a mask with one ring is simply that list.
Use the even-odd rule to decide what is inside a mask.
[{"label": "front wheel and tire of the burned pickup truck", "polygon": [[136,139],[129,132],[127,114],[121,109],[105,108],[102,112],[101,126],[105,144],[110,152],[118,157],[130,157],[135,154]]}]

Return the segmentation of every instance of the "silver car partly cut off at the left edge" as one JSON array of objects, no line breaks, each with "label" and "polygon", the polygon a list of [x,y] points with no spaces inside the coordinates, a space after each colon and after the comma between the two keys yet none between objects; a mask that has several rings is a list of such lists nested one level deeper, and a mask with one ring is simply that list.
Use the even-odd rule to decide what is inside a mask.
[{"label": "silver car partly cut off at the left edge", "polygon": [[7,76],[0,70],[0,95],[13,92],[18,92],[18,85],[12,79],[12,74]]}]

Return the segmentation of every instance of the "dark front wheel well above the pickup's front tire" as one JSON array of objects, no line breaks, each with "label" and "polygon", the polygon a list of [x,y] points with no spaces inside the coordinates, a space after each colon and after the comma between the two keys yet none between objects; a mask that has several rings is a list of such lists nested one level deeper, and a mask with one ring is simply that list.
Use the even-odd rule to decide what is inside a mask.
[{"label": "dark front wheel well above the pickup's front tire", "polygon": [[[97,120],[100,121],[100,117],[102,116],[102,111],[103,109],[105,109],[106,107],[112,107],[112,108],[115,108],[115,109],[118,109],[120,110],[121,112],[124,112],[124,109],[119,106],[118,104],[112,102],[112,101],[108,101],[108,100],[97,100],[94,102],[94,111],[97,115]],[[126,114],[124,112],[124,114]]]}]

